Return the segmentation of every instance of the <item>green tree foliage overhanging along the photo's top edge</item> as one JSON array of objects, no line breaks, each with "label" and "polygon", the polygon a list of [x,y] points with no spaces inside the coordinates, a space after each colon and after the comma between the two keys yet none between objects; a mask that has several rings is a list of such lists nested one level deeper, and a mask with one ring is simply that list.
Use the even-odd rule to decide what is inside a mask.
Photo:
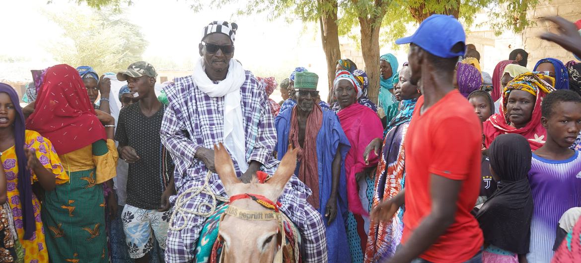
[{"label": "green tree foliage overhanging along the photo's top edge", "polygon": [[[112,6],[119,9],[122,5],[131,5],[134,0],[74,0],[86,3],[92,8]],[[167,1],[167,0],[166,0]],[[175,0],[180,1],[180,0]],[[239,0],[181,0],[191,2],[191,8],[202,11],[207,6],[217,9],[238,3]],[[49,1],[50,2],[50,1]],[[302,20],[317,22],[319,17],[329,12],[338,12],[339,35],[345,35],[354,40],[360,38],[357,30],[360,17],[372,18],[385,12],[382,20],[381,43],[393,42],[406,33],[406,26],[419,23],[415,15],[446,13],[459,6],[459,19],[466,26],[474,23],[474,17],[480,10],[486,10],[491,17],[490,26],[497,34],[511,30],[520,33],[526,26],[534,23],[526,17],[526,12],[535,8],[539,0],[249,0],[239,9],[238,15],[267,13],[268,19],[284,18],[286,20]],[[385,8],[376,8],[385,6]],[[358,42],[358,41],[357,41]]]}]

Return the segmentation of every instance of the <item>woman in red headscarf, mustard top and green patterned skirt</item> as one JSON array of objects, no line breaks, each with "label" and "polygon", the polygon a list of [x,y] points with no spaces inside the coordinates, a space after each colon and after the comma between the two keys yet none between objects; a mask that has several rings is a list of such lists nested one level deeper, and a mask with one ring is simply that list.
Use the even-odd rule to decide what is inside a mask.
[{"label": "woman in red headscarf, mustard top and green patterned skirt", "polygon": [[[51,140],[70,178],[42,204],[51,262],[108,262],[102,184],[113,189],[116,175],[113,117],[95,111],[78,72],[60,64],[46,70],[26,125]],[[114,215],[117,200],[109,196]]]}]

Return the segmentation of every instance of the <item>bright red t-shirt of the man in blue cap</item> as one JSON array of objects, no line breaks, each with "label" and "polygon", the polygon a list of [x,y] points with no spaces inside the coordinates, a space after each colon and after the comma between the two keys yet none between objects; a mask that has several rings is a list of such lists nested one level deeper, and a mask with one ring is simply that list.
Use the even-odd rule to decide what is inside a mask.
[{"label": "bright red t-shirt of the man in blue cap", "polygon": [[460,180],[462,186],[454,223],[420,255],[431,262],[464,262],[483,244],[482,230],[470,214],[480,190],[480,121],[474,108],[458,90],[419,114],[424,97],[418,100],[406,137],[406,212],[401,243],[429,215],[431,174]]}]

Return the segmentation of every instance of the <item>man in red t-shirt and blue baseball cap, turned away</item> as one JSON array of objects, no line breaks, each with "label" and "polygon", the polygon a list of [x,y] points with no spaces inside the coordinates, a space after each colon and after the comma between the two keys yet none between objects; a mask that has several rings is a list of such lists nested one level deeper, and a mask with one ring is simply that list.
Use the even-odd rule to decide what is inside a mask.
[{"label": "man in red t-shirt and blue baseball cap, turned away", "polygon": [[374,210],[392,218],[406,204],[401,246],[388,262],[482,262],[482,230],[470,214],[480,190],[480,122],[452,84],[465,33],[452,16],[432,15],[411,37],[411,84],[422,95],[406,135],[405,189]]}]

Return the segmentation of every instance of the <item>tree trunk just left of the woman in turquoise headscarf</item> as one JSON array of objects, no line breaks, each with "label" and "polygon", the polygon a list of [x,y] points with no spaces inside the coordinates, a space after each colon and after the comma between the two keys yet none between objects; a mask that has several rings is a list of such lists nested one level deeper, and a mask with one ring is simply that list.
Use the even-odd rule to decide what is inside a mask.
[{"label": "tree trunk just left of the woman in turquoise headscarf", "polygon": [[381,17],[377,17],[379,22],[372,21],[365,17],[359,17],[361,28],[361,53],[365,62],[365,73],[369,81],[367,98],[377,103],[379,96],[379,29],[381,28]]}]

